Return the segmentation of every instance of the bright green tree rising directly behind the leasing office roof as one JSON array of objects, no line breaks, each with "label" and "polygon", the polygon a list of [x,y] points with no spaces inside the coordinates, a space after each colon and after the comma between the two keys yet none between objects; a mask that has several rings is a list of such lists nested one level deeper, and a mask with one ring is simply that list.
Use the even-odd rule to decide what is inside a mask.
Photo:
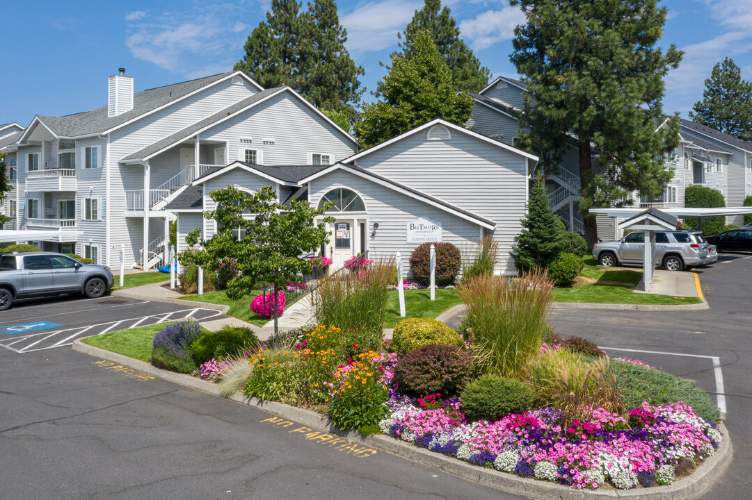
[{"label": "bright green tree rising directly behind the leasing office roof", "polygon": [[391,139],[435,118],[462,125],[472,113],[473,99],[452,88],[449,68],[429,32],[417,32],[411,57],[397,54],[384,77],[384,101],[365,104],[356,135],[364,147]]}]

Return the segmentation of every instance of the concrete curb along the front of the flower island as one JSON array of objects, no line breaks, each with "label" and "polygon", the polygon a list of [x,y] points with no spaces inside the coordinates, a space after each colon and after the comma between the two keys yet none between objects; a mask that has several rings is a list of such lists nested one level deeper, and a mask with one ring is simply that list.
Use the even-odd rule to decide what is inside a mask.
[{"label": "concrete curb along the front of the flower island", "polygon": [[[80,339],[76,339],[73,342],[73,350],[83,354],[89,354],[89,356],[112,360],[121,363],[124,366],[129,366],[138,369],[141,372],[148,373],[149,375],[162,378],[166,381],[202,390],[205,393],[214,394],[215,396],[219,396],[220,394],[217,384],[190,375],[183,375],[158,369],[141,360],[135,360],[132,357],[123,356],[123,354],[117,354],[112,351],[106,351],[105,349],[84,344],[83,342],[80,342]],[[651,488],[630,490],[574,489],[546,481],[506,474],[505,472],[496,471],[496,469],[493,468],[488,469],[479,467],[478,465],[472,465],[450,456],[441,455],[440,453],[434,453],[425,448],[416,447],[387,435],[369,435],[364,437],[357,431],[343,432],[332,423],[332,420],[329,420],[329,418],[324,417],[315,411],[295,408],[290,405],[284,405],[273,401],[262,401],[256,398],[248,399],[240,393],[233,394],[229,399],[245,405],[254,406],[263,411],[277,414],[286,419],[294,420],[297,423],[309,426],[312,429],[324,430],[331,432],[332,434],[341,435],[351,441],[359,441],[362,444],[367,444],[368,446],[378,448],[387,453],[393,453],[394,455],[412,460],[413,462],[438,468],[441,471],[462,477],[462,479],[472,480],[476,483],[483,484],[484,486],[500,489],[514,495],[520,495],[527,498],[540,498],[541,500],[549,500],[550,498],[561,498],[562,500],[578,500],[581,498],[693,500],[694,498],[699,498],[699,496],[705,492],[705,489],[711,486],[711,484],[723,474],[733,456],[733,448],[729,432],[723,423],[719,423],[718,427],[723,434],[723,440],[721,441],[718,450],[716,450],[713,456],[709,457],[705,462],[699,465],[690,476],[682,477],[670,486],[653,486]]]}]

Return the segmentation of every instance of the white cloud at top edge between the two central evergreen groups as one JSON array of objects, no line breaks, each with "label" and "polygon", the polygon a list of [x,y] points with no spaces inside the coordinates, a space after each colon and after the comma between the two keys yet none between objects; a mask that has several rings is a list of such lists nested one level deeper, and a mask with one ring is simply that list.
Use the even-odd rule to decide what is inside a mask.
[{"label": "white cloud at top edge between the two central evergreen groups", "polygon": [[423,2],[384,0],[361,3],[344,16],[340,23],[347,29],[347,50],[365,53],[393,47]]}]

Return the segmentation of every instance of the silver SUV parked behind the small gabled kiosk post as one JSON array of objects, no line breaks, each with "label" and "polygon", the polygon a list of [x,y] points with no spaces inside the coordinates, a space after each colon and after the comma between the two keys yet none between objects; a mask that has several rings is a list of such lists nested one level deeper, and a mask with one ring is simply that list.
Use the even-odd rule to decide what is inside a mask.
[{"label": "silver SUV parked behind the small gabled kiosk post", "polygon": [[[644,231],[634,231],[620,241],[600,242],[593,246],[593,257],[603,267],[642,264]],[[656,231],[656,264],[669,271],[702,266],[710,261],[708,242],[699,231]]]}]

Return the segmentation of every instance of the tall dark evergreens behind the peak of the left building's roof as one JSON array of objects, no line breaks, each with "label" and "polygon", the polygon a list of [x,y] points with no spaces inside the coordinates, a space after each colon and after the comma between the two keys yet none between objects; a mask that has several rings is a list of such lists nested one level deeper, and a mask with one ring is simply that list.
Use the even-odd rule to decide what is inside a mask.
[{"label": "tall dark evergreens behind the peak of the left building's roof", "polygon": [[295,0],[272,0],[266,21],[245,43],[245,56],[235,64],[265,88],[287,85],[316,107],[355,119],[364,89],[344,47],[347,31],[340,25],[333,0],[314,0],[301,11]]}]

